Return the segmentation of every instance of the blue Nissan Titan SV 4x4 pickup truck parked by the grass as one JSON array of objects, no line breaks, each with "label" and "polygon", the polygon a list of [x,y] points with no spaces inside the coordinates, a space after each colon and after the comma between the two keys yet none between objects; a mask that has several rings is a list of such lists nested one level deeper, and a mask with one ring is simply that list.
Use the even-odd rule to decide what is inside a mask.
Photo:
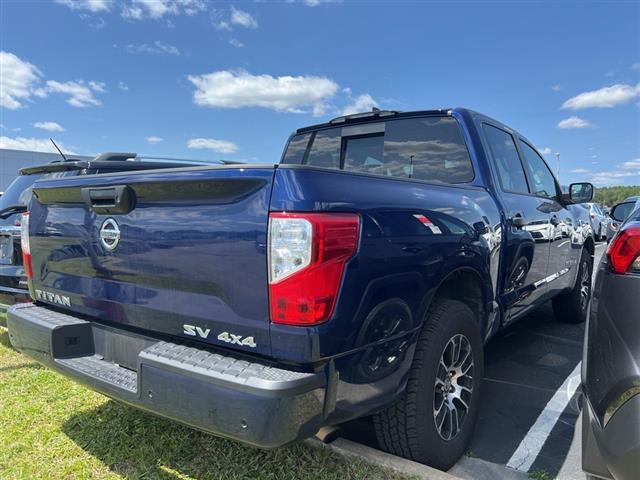
[{"label": "blue Nissan Titan SV 4x4 pickup truck parked by the grass", "polygon": [[446,469],[484,344],[550,299],[585,320],[592,195],[466,109],[301,128],[278,165],[39,180],[9,336],[216,435],[273,448],[372,415],[382,448]]}]

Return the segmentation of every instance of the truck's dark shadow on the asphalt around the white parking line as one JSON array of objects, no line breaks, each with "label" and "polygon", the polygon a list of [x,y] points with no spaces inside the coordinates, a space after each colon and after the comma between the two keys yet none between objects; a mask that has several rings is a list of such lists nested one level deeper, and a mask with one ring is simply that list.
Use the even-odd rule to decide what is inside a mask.
[{"label": "truck's dark shadow on the asphalt around the white parking line", "polygon": [[[509,462],[582,359],[583,334],[584,325],[557,322],[548,303],[489,342],[478,423],[468,456],[498,465]],[[579,381],[579,376],[574,380]],[[580,397],[578,389],[564,411],[557,412],[558,421],[534,455],[530,472],[542,471],[554,478],[567,462],[580,414]],[[370,419],[343,425],[339,435],[379,448]]]}]

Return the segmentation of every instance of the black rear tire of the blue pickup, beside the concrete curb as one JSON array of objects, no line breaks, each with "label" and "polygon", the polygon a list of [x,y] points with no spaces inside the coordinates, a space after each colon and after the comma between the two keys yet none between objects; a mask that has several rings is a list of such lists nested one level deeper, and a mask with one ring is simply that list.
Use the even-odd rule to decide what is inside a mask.
[{"label": "black rear tire of the blue pickup, beside the concrete curb", "polygon": [[[452,410],[446,408],[445,382],[437,378],[444,376],[446,381],[447,369],[441,367],[440,361],[441,358],[445,358],[445,362],[449,363],[447,352],[451,353],[450,357],[453,360],[455,354],[450,346],[451,342],[455,344],[456,339],[465,345],[460,347],[461,353],[458,353],[458,358],[465,357],[460,364],[459,372],[467,369],[471,378],[457,374],[450,376],[448,384],[451,390],[447,392],[451,392],[451,395],[458,392],[460,395],[464,394],[464,400],[468,405],[466,412],[463,412],[462,400],[453,400],[456,412],[460,409],[460,413],[456,413],[454,417],[450,413]],[[381,448],[394,455],[441,470],[451,468],[465,452],[475,427],[480,385],[484,375],[483,355],[477,318],[469,307],[456,300],[435,300],[426,314],[402,397],[394,405],[373,417],[376,437]],[[469,358],[473,360],[470,369]],[[461,386],[471,386],[471,392],[464,391]],[[444,417],[435,416],[436,403],[439,403],[440,399],[440,413]],[[447,414],[450,416],[447,417]],[[440,430],[436,425],[436,418],[441,423]],[[446,418],[451,419],[447,426],[444,425]],[[446,430],[450,426],[450,433],[453,433],[453,418],[462,419],[460,428],[456,435],[446,440],[441,432],[444,432],[446,437]]]}]

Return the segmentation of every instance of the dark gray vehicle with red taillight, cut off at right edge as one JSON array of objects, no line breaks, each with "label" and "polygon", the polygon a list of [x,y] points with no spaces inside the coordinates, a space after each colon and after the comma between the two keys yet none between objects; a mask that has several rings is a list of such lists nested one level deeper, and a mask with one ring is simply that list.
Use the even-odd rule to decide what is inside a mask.
[{"label": "dark gray vehicle with red taillight, cut off at right edge", "polygon": [[631,480],[640,475],[640,209],[619,203],[611,216],[624,223],[598,268],[585,333],[582,468]]}]

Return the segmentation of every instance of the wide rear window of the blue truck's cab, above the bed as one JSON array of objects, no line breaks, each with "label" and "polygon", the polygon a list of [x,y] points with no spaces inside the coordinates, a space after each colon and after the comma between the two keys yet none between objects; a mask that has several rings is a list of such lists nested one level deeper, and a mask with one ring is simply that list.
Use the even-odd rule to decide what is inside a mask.
[{"label": "wide rear window of the blue truck's cab, above the bed", "polygon": [[282,163],[440,183],[466,183],[474,178],[460,127],[451,117],[306,132],[292,137]]}]

